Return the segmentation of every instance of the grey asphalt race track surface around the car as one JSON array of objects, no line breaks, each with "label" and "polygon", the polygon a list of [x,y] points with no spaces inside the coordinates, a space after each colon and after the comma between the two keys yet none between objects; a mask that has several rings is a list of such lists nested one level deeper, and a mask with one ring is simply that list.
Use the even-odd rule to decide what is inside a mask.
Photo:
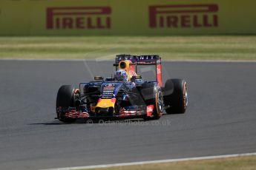
[{"label": "grey asphalt race track surface around the car", "polygon": [[0,169],[256,152],[256,63],[164,62],[163,68],[164,80],[188,82],[185,115],[65,124],[54,120],[59,86],[111,75],[112,62],[0,61]]}]

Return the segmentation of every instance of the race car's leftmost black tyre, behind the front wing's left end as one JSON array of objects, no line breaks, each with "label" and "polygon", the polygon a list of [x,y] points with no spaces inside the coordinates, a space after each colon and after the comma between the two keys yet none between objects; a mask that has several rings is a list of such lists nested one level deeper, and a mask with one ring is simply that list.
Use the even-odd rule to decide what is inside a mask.
[{"label": "race car's leftmost black tyre, behind the front wing's left end", "polygon": [[56,113],[57,118],[65,123],[73,123],[76,119],[65,118],[62,112],[59,112],[59,108],[68,108],[74,106],[74,92],[75,88],[70,85],[64,85],[59,88],[56,99]]}]

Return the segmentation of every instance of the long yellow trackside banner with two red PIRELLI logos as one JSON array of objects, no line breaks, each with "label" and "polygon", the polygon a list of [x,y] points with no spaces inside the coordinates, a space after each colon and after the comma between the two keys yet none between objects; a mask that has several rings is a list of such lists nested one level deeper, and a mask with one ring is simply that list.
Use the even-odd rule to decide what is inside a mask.
[{"label": "long yellow trackside banner with two red PIRELLI logos", "polygon": [[0,35],[255,33],[255,0],[0,1]]}]

